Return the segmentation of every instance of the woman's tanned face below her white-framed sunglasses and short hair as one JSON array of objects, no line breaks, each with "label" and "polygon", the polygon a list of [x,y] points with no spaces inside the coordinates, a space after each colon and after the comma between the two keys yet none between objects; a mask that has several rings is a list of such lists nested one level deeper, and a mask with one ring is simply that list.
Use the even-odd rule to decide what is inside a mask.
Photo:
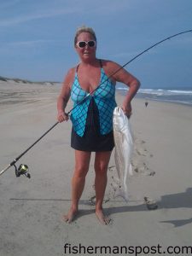
[{"label": "woman's tanned face below her white-framed sunglasses and short hair", "polygon": [[[81,41],[95,41],[95,38],[89,32],[82,32],[77,38],[77,44]],[[96,59],[96,44],[94,46],[85,44],[85,46],[82,48],[80,48],[77,44],[75,45],[75,49],[82,61],[94,61]]]}]

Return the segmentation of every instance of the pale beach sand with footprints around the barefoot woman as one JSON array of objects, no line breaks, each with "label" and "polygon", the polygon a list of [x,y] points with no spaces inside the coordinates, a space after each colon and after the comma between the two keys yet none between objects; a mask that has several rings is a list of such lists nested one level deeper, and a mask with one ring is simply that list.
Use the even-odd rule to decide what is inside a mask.
[{"label": "pale beach sand with footprints around the barefoot woman", "polygon": [[[55,124],[60,86],[1,81],[0,89],[3,170]],[[117,93],[116,100],[120,105],[123,96]],[[71,107],[70,102],[67,110]],[[124,255],[117,253],[120,247],[137,247],[138,253],[132,251],[131,255],[159,255],[158,248],[169,255],[167,247],[175,247],[176,253],[182,247],[191,247],[192,108],[153,101],[146,108],[142,99],[134,99],[132,108],[134,172],[128,203],[113,199],[112,177],[117,176],[113,155],[108,168],[103,207],[113,223],[102,225],[95,216],[93,159],[79,216],[72,224],[62,221],[63,213],[70,207],[74,166],[68,121],[56,125],[18,161],[17,166],[29,166],[31,179],[15,177],[14,166],[0,177],[0,255]],[[157,208],[148,210],[146,201],[149,207]],[[71,252],[64,250],[67,243]],[[81,246],[81,253],[74,246]],[[89,252],[84,253],[83,247]],[[116,251],[110,253],[114,247]],[[156,249],[156,253],[149,249]]]}]

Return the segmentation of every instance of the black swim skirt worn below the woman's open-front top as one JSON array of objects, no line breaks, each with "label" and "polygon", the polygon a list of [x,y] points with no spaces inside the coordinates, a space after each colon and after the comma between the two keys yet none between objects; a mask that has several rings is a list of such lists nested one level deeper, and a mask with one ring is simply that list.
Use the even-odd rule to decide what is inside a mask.
[{"label": "black swim skirt worn below the woman's open-front top", "polygon": [[105,135],[100,133],[99,112],[93,97],[88,108],[84,136],[80,137],[72,128],[71,147],[88,152],[113,150],[113,131]]}]

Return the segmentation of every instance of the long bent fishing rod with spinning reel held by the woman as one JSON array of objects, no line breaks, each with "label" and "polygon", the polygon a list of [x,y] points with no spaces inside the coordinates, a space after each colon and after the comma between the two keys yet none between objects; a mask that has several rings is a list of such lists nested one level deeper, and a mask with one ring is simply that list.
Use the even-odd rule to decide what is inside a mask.
[{"label": "long bent fishing rod with spinning reel held by the woman", "polygon": [[[124,68],[125,66],[127,66],[128,64],[130,64],[132,61],[136,60],[139,56],[143,55],[145,52],[147,52],[149,49],[154,48],[155,46],[157,46],[158,44],[162,44],[163,42],[165,42],[166,40],[169,40],[171,38],[175,38],[179,35],[182,35],[184,33],[188,33],[188,32],[192,32],[192,29],[187,30],[187,31],[183,31],[183,32],[179,32],[177,34],[174,34],[168,38],[164,38],[162,40],[160,40],[159,42],[157,42],[156,44],[151,45],[150,47],[148,47],[148,49],[144,49],[141,53],[139,53],[138,55],[136,55],[135,57],[133,57],[130,61],[127,61],[123,66],[119,67],[115,72],[113,72],[112,74],[110,74],[108,76],[108,79],[112,78],[114,74],[118,73],[122,68]],[[69,115],[69,113],[71,113],[73,111],[73,109],[77,108],[80,104],[82,104],[91,94],[93,94],[102,84],[104,84],[105,82],[108,81],[108,79],[104,80],[101,84],[99,84],[96,89],[90,91],[90,93],[87,96],[84,96],[84,99],[79,102],[77,105],[75,105],[75,107],[73,107],[71,110],[69,110],[66,114]],[[25,175],[26,177],[30,178],[31,175],[28,172],[28,166],[21,164],[18,168],[15,165],[15,163],[20,160],[20,158],[26,154],[26,152],[28,152],[35,144],[37,144],[46,134],[49,133],[49,131],[51,131],[56,125],[58,125],[59,122],[57,121],[54,125],[52,125],[48,131],[45,131],[44,134],[38,138],[37,141],[35,141],[34,143],[32,143],[32,145],[29,148],[26,148],[26,150],[24,152],[22,152],[19,156],[17,156],[15,158],[15,160],[13,160],[9,166],[6,166],[1,172],[0,172],[0,176],[3,174],[3,172],[6,172],[11,166],[15,166],[15,175],[16,177],[20,177],[20,175]]]}]

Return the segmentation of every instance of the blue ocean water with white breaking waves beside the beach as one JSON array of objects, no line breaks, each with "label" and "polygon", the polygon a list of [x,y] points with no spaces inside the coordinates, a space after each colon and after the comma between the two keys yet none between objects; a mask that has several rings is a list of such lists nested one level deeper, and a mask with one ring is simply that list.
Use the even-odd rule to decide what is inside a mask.
[{"label": "blue ocean water with white breaking waves beside the beach", "polygon": [[[128,88],[122,84],[117,84],[117,90],[125,95]],[[192,107],[192,88],[164,88],[164,89],[143,89],[137,92],[137,98],[146,99],[146,101],[154,100],[160,102],[172,102],[185,104]]]}]

